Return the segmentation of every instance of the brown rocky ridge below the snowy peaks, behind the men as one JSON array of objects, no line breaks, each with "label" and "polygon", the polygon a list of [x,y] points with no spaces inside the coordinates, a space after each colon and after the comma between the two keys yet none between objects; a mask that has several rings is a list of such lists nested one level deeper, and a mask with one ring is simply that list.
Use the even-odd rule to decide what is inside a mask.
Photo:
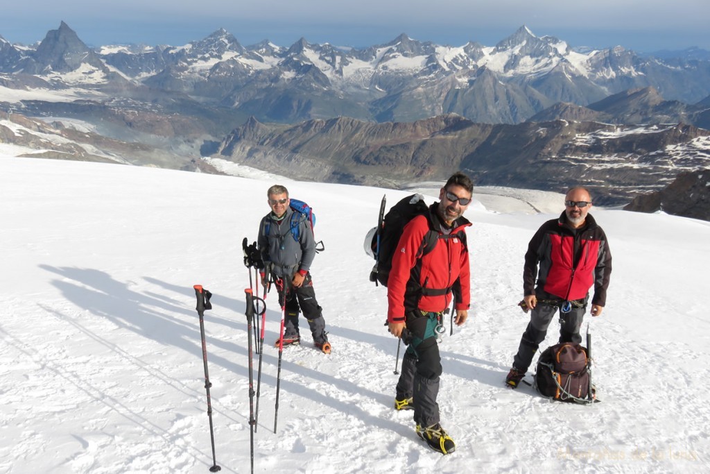
[{"label": "brown rocky ridge below the snowy peaks, behind the men", "polygon": [[564,191],[568,183],[586,183],[600,203],[619,205],[670,183],[679,171],[708,166],[710,131],[562,120],[477,124],[457,115],[290,126],[252,117],[226,136],[215,156],[297,179],[339,183],[396,186],[441,180],[456,168],[479,185]]}]

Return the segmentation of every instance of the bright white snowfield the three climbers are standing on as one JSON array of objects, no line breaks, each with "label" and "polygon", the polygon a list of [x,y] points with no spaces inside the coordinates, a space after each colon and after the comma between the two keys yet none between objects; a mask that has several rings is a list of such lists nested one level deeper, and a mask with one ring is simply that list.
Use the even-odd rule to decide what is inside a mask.
[{"label": "bright white snowfield the three climbers are standing on", "polygon": [[[273,183],[260,179],[0,158],[0,472],[206,471],[193,284],[214,294],[204,328],[217,464],[249,472],[249,273],[240,247],[268,212]],[[268,294],[255,472],[710,469],[710,318],[700,297],[710,289],[709,223],[592,210],[614,271],[603,315],[586,318],[601,403],[576,406],[503,384],[528,322],[515,306],[523,254],[561,207],[530,214],[471,205],[471,316],[453,335],[447,317],[440,345],[442,425],[457,451],[440,456],[415,435],[412,412],[393,409],[397,343],[383,326],[386,289],[368,281],[362,250],[382,194],[389,208],[408,193],[287,185],[314,206],[326,245],[312,275],[333,352],[313,347],[300,318],[301,345],[283,351],[273,433],[280,308]],[[550,195],[517,195],[555,208]],[[256,354],[253,368],[256,390]]]}]

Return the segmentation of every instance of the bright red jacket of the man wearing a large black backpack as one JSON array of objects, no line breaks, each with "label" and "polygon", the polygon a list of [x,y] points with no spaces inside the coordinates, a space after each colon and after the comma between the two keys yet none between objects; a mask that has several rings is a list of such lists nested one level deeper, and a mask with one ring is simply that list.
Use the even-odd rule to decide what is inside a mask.
[{"label": "bright red jacket of the man wearing a large black backpack", "polygon": [[[435,214],[437,205],[434,203],[430,206],[430,214]],[[436,222],[436,227],[432,226],[431,220]],[[387,321],[390,323],[403,323],[405,311],[415,308],[422,311],[444,311],[451,303],[452,291],[457,310],[468,309],[470,306],[469,250],[465,242],[461,242],[455,234],[465,232],[465,227],[469,227],[471,222],[465,217],[459,217],[454,222],[452,237],[437,239],[431,252],[417,258],[422,249],[422,240],[430,229],[444,235],[438,224],[438,217],[419,215],[404,227],[392,257],[392,270],[387,281]]]}]

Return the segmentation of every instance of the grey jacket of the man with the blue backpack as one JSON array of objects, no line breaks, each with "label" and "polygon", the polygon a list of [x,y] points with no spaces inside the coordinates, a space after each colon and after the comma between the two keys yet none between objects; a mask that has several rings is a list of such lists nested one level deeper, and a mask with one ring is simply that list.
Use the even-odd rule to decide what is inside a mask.
[{"label": "grey jacket of the man with the blue backpack", "polygon": [[[309,271],[315,258],[315,238],[310,222],[305,215],[298,219],[298,242],[291,232],[294,210],[286,209],[281,220],[275,220],[272,212],[259,223],[258,248],[265,264],[271,263],[271,271],[276,276],[290,278],[297,271]],[[266,235],[266,222],[271,221]]]}]

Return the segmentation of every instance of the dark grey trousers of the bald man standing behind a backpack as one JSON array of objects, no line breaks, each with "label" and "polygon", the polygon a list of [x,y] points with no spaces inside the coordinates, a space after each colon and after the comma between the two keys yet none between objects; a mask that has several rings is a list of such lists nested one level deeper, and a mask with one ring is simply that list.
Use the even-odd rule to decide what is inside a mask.
[{"label": "dark grey trousers of the bald man standing behind a backpack", "polygon": [[545,340],[547,328],[550,326],[552,318],[558,310],[559,342],[581,343],[579,328],[581,328],[584,312],[586,311],[586,299],[584,300],[584,306],[572,306],[568,313],[562,312],[561,304],[562,303],[560,303],[560,305],[538,303],[537,306],[532,309],[530,312],[530,323],[528,323],[528,328],[525,329],[523,337],[520,338],[518,353],[513,357],[513,367],[521,372],[528,371],[532,357],[535,356],[535,352],[537,352],[537,348],[540,347],[540,343]]}]

